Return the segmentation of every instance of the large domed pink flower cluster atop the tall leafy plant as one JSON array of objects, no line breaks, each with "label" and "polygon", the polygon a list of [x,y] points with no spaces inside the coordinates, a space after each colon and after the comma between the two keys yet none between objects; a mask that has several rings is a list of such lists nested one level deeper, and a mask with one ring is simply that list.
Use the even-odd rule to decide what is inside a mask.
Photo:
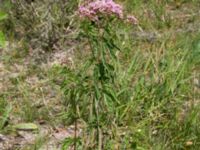
[{"label": "large domed pink flower cluster atop the tall leafy plant", "polygon": [[90,20],[98,20],[99,14],[116,15],[123,18],[123,8],[113,0],[96,0],[87,5],[79,7],[81,17],[87,17]]}]

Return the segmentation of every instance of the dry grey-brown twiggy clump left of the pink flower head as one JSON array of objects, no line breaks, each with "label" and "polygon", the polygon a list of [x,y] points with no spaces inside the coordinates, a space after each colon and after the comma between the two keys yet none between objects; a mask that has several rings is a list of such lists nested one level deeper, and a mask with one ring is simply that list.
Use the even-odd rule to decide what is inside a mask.
[{"label": "dry grey-brown twiggy clump left of the pink flower head", "polygon": [[5,26],[7,32],[10,32],[10,39],[29,43],[35,55],[52,50],[65,50],[73,43],[71,37],[76,33],[73,16],[79,0],[3,2],[9,5],[9,20]]}]

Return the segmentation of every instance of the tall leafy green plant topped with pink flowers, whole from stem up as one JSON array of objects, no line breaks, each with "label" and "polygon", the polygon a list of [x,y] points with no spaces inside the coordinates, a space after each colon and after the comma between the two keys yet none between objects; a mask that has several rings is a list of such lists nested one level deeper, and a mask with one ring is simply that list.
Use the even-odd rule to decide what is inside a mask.
[{"label": "tall leafy green plant topped with pink flowers, whole from stem up", "polygon": [[[75,126],[74,149],[115,149],[118,143],[116,108],[120,105],[116,82],[116,53],[120,52],[117,30],[124,22],[136,24],[134,16],[125,16],[119,4],[95,1],[79,8],[81,36],[87,39],[90,58],[80,70],[64,69],[68,118]],[[78,124],[84,124],[78,139]],[[79,141],[79,142],[78,142]]]}]

